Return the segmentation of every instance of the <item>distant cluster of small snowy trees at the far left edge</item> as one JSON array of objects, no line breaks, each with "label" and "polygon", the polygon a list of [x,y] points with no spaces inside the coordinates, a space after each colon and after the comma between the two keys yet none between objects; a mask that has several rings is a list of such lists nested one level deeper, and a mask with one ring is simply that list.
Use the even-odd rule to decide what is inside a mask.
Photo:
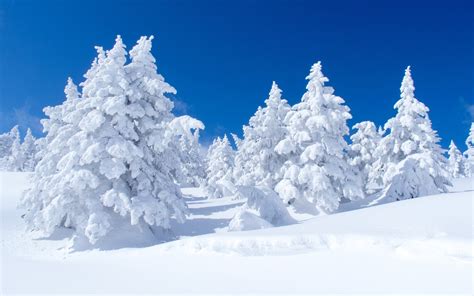
[{"label": "distant cluster of small snowy trees at the far left edge", "polygon": [[18,126],[0,135],[0,171],[31,172],[38,161],[41,141],[37,141],[31,130],[26,131],[23,142]]}]

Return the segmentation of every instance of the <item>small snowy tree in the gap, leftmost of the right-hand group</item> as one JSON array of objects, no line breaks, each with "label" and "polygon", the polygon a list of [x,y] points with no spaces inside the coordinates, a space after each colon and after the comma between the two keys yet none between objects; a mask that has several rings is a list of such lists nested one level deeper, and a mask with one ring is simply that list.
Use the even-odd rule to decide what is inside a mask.
[{"label": "small snowy tree in the gap, leftmost of the right-hand group", "polygon": [[233,186],[234,150],[227,139],[218,137],[209,146],[207,152],[207,179],[205,192],[208,198],[221,198],[231,195]]}]

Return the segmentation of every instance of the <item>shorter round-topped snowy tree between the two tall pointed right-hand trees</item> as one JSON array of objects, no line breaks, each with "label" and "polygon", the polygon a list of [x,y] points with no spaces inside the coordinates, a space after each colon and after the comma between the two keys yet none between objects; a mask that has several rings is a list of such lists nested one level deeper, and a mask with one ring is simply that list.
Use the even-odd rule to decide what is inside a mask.
[{"label": "shorter round-topped snowy tree between the two tall pointed right-hand trees", "polygon": [[359,122],[353,129],[357,129],[357,132],[351,136],[350,163],[360,172],[366,193],[370,194],[373,186],[369,183],[369,172],[376,160],[375,149],[382,137],[371,121]]}]

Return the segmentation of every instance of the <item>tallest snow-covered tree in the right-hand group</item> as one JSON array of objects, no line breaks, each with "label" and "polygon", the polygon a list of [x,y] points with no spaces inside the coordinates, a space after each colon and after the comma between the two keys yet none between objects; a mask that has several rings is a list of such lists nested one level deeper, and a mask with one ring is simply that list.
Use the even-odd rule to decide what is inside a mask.
[{"label": "tallest snow-covered tree in the right-hand group", "polygon": [[283,179],[275,190],[287,203],[308,202],[319,211],[334,211],[343,200],[363,196],[360,178],[346,159],[349,108],[335,96],[322,73],[321,63],[311,67],[300,103],[285,118],[288,135],[275,151],[288,158]]}]

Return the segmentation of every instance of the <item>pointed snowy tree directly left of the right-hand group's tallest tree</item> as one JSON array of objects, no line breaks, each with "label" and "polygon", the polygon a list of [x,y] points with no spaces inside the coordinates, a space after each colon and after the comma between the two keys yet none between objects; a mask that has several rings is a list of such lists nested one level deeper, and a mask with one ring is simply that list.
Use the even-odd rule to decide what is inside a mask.
[{"label": "pointed snowy tree directly left of the right-hand group's tallest tree", "polygon": [[273,82],[265,107],[258,108],[244,126],[244,138],[238,143],[235,157],[238,185],[265,185],[274,188],[285,158],[275,152],[276,145],[286,136],[283,120],[290,111],[288,102],[281,98],[281,90]]}]

